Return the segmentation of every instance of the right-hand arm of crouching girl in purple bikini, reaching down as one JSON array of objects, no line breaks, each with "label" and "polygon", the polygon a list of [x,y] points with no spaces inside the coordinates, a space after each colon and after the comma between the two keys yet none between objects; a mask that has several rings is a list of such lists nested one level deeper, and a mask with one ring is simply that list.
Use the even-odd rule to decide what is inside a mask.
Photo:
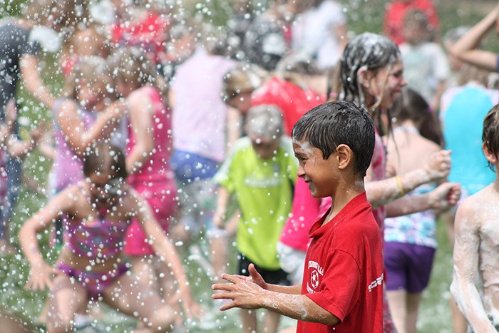
[{"label": "right-hand arm of crouching girl in purple bikini, reaching down", "polygon": [[180,292],[180,298],[182,299],[182,304],[185,309],[185,315],[188,318],[196,317],[199,318],[202,312],[199,304],[194,302],[192,299],[192,294],[190,292],[189,281],[185,275],[182,262],[180,261],[180,256],[173,242],[165,235],[163,228],[159,225],[158,221],[155,219],[153,212],[145,200],[133,189],[129,189],[131,195],[133,196],[133,201],[136,205],[135,210],[137,211],[137,219],[143,225],[145,233],[148,235],[150,240],[152,240],[151,246],[156,252],[156,255],[160,257],[162,261],[166,262],[166,265],[170,267],[173,275],[178,282],[178,288]]}]

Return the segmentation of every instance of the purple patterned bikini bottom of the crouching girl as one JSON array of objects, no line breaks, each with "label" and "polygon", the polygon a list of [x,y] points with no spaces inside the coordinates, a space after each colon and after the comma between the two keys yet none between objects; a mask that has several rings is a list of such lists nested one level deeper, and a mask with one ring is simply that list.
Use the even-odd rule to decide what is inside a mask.
[{"label": "purple patterned bikini bottom of the crouching girl", "polygon": [[96,273],[88,272],[86,270],[77,270],[69,265],[60,263],[57,268],[61,270],[68,277],[81,283],[81,285],[88,292],[89,299],[98,299],[102,292],[115,282],[121,275],[128,272],[126,264],[119,265],[112,272]]}]

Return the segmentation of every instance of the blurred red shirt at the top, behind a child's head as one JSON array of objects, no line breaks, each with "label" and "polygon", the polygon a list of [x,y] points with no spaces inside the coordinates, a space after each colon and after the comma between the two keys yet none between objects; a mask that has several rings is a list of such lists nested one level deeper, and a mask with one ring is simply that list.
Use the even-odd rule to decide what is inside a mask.
[{"label": "blurred red shirt at the top, behind a child's head", "polygon": [[405,41],[402,34],[403,17],[411,9],[423,11],[434,29],[438,29],[438,14],[431,0],[413,0],[411,2],[393,0],[386,6],[383,33],[397,45]]}]

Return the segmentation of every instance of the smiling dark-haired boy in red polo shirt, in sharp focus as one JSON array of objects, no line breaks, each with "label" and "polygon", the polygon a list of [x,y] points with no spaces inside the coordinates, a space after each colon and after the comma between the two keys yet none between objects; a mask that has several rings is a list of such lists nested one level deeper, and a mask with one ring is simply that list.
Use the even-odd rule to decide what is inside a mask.
[{"label": "smiling dark-haired boy in red polo shirt, in sharp focus", "polygon": [[379,227],[366,199],[364,176],[374,150],[374,125],[349,101],[321,104],[294,125],[298,176],[315,198],[333,205],[312,226],[302,286],[267,283],[253,264],[250,277],[222,275],[213,299],[220,309],[266,308],[299,320],[297,332],[382,332],[383,258]]}]

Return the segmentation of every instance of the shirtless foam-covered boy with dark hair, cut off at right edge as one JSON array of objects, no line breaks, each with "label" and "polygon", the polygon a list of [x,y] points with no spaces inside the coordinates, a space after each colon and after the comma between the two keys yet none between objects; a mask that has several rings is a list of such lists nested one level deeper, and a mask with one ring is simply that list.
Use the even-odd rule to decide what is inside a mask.
[{"label": "shirtless foam-covered boy with dark hair, cut off at right edge", "polygon": [[482,149],[495,180],[463,200],[456,212],[451,292],[468,332],[499,330],[499,104],[483,120]]}]

